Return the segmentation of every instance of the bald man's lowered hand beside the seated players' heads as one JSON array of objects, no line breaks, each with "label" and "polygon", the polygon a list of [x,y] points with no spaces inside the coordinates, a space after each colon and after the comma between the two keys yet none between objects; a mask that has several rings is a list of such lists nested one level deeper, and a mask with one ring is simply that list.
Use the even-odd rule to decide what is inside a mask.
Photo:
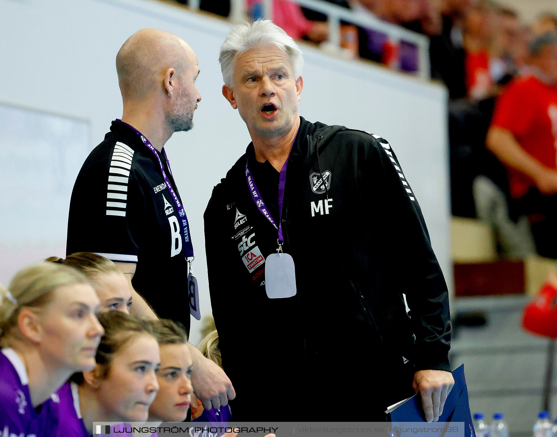
[{"label": "bald man's lowered hand beside the seated players' heads", "polygon": [[190,345],[189,350],[193,359],[193,392],[197,399],[202,402],[206,410],[228,405],[228,400],[236,397],[236,391],[228,376],[213,361],[204,357],[196,347]]}]

